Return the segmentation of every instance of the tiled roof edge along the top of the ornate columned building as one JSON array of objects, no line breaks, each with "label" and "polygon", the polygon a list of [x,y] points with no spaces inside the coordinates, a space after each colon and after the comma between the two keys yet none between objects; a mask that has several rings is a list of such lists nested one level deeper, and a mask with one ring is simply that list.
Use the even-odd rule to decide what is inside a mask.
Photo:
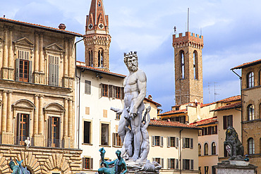
[{"label": "tiled roof edge along the top of the ornate columned building", "polygon": [[65,32],[65,33],[70,34],[70,35],[77,35],[78,37],[83,37],[83,35],[80,35],[77,32],[70,32],[70,31],[67,31],[67,30],[61,30],[59,28],[47,27],[47,26],[44,26],[44,25],[39,25],[39,24],[34,24],[34,23],[26,23],[26,22],[19,21],[19,20],[13,20],[13,19],[8,19],[8,18],[0,18],[0,21],[7,22],[7,23],[18,23],[18,24],[27,25],[27,26],[30,26],[30,27],[40,27],[40,28],[43,28],[43,29],[46,29],[46,30],[55,30],[57,32],[63,32],[63,33]]}]

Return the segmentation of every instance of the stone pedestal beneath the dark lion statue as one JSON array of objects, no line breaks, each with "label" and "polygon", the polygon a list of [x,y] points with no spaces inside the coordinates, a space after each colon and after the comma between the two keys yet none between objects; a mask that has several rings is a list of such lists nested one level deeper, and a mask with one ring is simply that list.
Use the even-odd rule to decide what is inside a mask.
[{"label": "stone pedestal beneath the dark lion statue", "polygon": [[221,161],[215,168],[217,174],[255,174],[257,166],[253,166],[248,161]]}]

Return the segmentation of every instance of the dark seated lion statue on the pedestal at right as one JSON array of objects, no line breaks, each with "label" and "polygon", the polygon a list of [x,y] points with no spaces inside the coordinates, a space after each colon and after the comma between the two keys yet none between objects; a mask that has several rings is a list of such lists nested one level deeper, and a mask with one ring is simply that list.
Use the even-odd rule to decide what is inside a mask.
[{"label": "dark seated lion statue on the pedestal at right", "polygon": [[224,146],[229,153],[229,160],[244,161],[243,145],[238,139],[238,133],[231,126],[226,129],[226,141],[224,142]]}]

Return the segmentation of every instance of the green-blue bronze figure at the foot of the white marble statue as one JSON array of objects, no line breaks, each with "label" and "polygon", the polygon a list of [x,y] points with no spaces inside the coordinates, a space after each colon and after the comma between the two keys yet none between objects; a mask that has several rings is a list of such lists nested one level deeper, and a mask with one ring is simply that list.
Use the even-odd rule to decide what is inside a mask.
[{"label": "green-blue bronze figure at the foot of the white marble statue", "polygon": [[[111,162],[107,162],[104,160],[104,154],[105,154],[105,150],[104,148],[99,149],[99,152],[101,152],[101,157],[102,157],[102,164],[104,165],[104,168],[99,168],[98,173],[99,174],[121,174],[122,170],[122,174],[127,172],[127,166],[126,163],[124,161],[123,158],[121,158],[121,151],[117,150],[116,151],[116,155],[118,157],[118,159],[111,161]],[[109,165],[114,164],[114,167],[109,168]]]}]

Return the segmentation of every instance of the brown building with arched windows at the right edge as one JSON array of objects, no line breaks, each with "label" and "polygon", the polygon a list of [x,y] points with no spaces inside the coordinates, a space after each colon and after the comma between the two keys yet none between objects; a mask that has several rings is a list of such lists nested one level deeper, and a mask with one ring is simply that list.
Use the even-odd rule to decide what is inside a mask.
[{"label": "brown building with arched windows at the right edge", "polygon": [[250,163],[261,173],[261,59],[244,63],[241,69],[242,142]]}]

